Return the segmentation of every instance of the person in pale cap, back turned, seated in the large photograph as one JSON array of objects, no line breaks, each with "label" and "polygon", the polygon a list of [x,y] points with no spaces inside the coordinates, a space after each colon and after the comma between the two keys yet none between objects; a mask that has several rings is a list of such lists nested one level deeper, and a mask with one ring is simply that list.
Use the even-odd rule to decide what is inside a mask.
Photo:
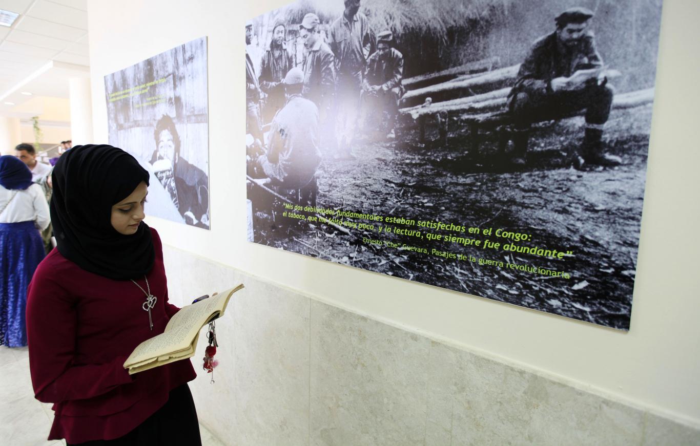
[{"label": "person in pale cap, back turned, seated in the large photograph", "polygon": [[321,162],[318,150],[318,108],[302,97],[304,73],[290,69],[284,78],[287,102],[272,120],[267,153],[256,160],[273,186],[303,189],[314,180]]}]

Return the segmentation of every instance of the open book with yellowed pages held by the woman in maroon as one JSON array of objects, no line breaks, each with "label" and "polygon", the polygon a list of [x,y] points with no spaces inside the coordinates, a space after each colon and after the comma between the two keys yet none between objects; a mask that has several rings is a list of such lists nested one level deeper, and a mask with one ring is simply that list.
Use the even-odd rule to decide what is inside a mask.
[{"label": "open book with yellowed pages held by the woman in maroon", "polygon": [[241,288],[242,283],[214,297],[181,308],[170,319],[163,333],[144,340],[134,349],[124,362],[124,368],[128,368],[129,374],[133,375],[193,357],[202,326],[223,316],[228,300]]}]

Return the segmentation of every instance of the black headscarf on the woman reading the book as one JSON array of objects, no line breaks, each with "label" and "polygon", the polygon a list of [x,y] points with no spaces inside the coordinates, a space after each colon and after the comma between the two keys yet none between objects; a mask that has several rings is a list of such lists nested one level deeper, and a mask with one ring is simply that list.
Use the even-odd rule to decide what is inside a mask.
[{"label": "black headscarf on the woman reading the book", "polygon": [[111,224],[112,206],[130,196],[148,171],[111,145],[76,145],[52,173],[51,222],[58,250],[80,268],[116,280],[151,271],[155,259],[145,222],[125,236]]}]

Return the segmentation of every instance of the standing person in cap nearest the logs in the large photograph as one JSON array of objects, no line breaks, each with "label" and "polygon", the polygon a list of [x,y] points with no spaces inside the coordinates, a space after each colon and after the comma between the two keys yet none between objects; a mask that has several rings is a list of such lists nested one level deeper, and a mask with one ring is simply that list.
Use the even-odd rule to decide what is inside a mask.
[{"label": "standing person in cap nearest the logs in the large photograph", "polygon": [[363,124],[369,110],[379,110],[389,115],[387,138],[395,138],[394,127],[398,115],[398,103],[403,96],[403,55],[392,48],[393,34],[381,31],[377,34],[377,51],[367,61],[363,80]]}]

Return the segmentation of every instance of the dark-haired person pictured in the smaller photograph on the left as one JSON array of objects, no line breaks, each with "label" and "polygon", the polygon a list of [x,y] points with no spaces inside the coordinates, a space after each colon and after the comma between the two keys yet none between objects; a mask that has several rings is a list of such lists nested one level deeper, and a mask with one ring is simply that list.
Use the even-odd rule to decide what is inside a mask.
[{"label": "dark-haired person pictured in the smaller photograph on the left", "polygon": [[180,136],[171,117],[163,115],[158,120],[153,138],[155,176],[187,224],[209,228],[209,177],[180,156]]}]

